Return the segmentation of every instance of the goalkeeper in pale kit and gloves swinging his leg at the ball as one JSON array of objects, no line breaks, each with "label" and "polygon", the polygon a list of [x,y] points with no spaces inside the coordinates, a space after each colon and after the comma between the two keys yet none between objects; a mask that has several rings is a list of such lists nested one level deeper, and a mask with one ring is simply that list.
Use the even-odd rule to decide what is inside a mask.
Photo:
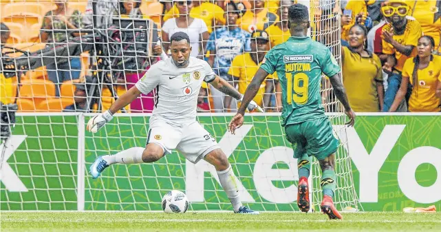
[{"label": "goalkeeper in pale kit and gloves swinging his leg at the ball", "polygon": [[[191,46],[187,34],[176,32],[170,41],[171,58],[151,65],[140,81],[122,94],[109,110],[91,118],[87,123],[87,130],[96,133],[113,118],[115,112],[129,105],[141,93],[148,94],[156,88],[157,97],[149,121],[146,147],[133,147],[113,156],[98,157],[90,167],[92,177],[98,178],[109,165],[155,162],[171,154],[173,149],[178,149],[190,162],[204,159],[215,166],[219,182],[233,204],[235,213],[259,214],[242,206],[235,174],[226,155],[215,138],[196,121],[197,96],[202,81],[239,101],[243,96],[224,79],[216,76],[206,61],[190,57]],[[248,103],[249,110],[261,111],[254,101]]]}]

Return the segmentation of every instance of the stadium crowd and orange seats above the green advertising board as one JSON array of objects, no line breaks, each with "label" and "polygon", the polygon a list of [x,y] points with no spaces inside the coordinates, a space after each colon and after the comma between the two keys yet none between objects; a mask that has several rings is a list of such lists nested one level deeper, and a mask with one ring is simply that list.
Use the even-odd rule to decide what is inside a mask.
[{"label": "stadium crowd and orange seats above the green advertising board", "polygon": [[[441,111],[441,1],[307,2],[312,9],[311,36],[327,45],[341,62],[343,85],[355,112]],[[103,86],[102,109],[114,101],[109,89],[118,94],[127,91],[160,60],[163,51],[169,52],[169,39],[175,32],[189,34],[191,56],[206,59],[220,77],[244,94],[265,62],[266,52],[290,37],[288,8],[294,3],[297,1],[101,1],[98,20],[151,19],[153,33],[158,32],[144,70],[124,70],[105,84],[111,88]],[[87,0],[1,0],[1,49],[32,51],[69,43],[84,34],[81,28],[92,25],[92,14],[92,1]],[[19,78],[0,74],[0,100],[17,101],[21,111],[83,111],[92,85],[89,76],[94,60],[90,57],[88,52],[57,57],[57,63]],[[336,110],[326,77],[322,89],[325,109]],[[266,112],[280,112],[281,98],[275,73],[261,85],[254,101]],[[204,85],[198,110],[234,112],[237,103],[233,100]],[[131,103],[129,112],[151,112],[154,101],[155,91]]]}]

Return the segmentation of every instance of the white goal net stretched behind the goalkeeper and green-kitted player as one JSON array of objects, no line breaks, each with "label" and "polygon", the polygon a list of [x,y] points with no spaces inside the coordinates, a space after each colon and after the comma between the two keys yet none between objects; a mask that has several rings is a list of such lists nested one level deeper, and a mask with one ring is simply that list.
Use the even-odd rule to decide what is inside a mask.
[{"label": "white goal net stretched behind the goalkeeper and green-kitted player", "polygon": [[[160,59],[160,54],[153,49],[159,44],[155,42],[158,39],[155,32],[162,31],[164,17],[171,14],[170,18],[173,18],[175,7],[163,10],[172,1],[164,1],[164,4],[133,1],[131,8],[140,9],[142,13],[121,11],[121,14],[125,13],[124,17],[117,15],[120,19],[116,24],[117,28],[125,30],[120,30],[120,34],[112,29],[100,30],[103,27],[97,28],[94,23],[89,28],[81,23],[76,25],[77,19],[68,20],[70,25],[64,29],[65,32],[51,32],[62,17],[50,21],[45,14],[49,9],[56,9],[55,3],[58,2],[23,2],[1,1],[1,20],[8,25],[12,35],[4,46],[8,48],[3,48],[3,53],[10,53],[2,54],[1,65],[8,63],[24,70],[13,72],[15,75],[3,70],[4,76],[1,76],[0,92],[9,94],[2,94],[1,101],[19,105],[17,123],[14,128],[8,127],[12,136],[2,134],[0,145],[1,210],[161,211],[162,196],[173,189],[186,193],[191,202],[189,210],[232,210],[215,169],[204,160],[195,165],[180,156],[178,151],[153,164],[112,165],[98,180],[93,180],[88,173],[89,166],[98,156],[145,146],[155,91],[142,95],[96,134],[85,131],[85,123],[96,113],[108,109],[115,101],[114,96],[126,92],[142,77],[143,70],[149,66],[145,65],[146,60],[153,63],[155,59]],[[339,1],[297,2],[310,9],[312,38],[330,48],[336,60],[341,62],[340,18],[336,10]],[[244,9],[250,8],[249,1],[243,3]],[[96,1],[96,5],[103,8],[130,9],[124,4],[124,1]],[[265,4],[265,10],[279,14],[279,1],[267,0]],[[200,5],[198,15],[204,18],[219,14],[217,10],[222,8],[212,5],[204,5],[204,8]],[[91,12],[87,1],[70,0],[65,6],[72,15],[78,15],[75,17],[91,14],[92,20],[104,24],[113,18],[103,17],[105,14],[99,10]],[[8,9],[8,14],[3,14],[5,9]],[[99,15],[93,17],[96,12]],[[136,20],[124,20],[132,19],[133,15],[138,15]],[[222,12],[221,17],[224,17]],[[225,23],[228,26],[228,20]],[[207,27],[211,27],[213,32],[222,28],[214,25]],[[81,28],[83,31],[78,31],[78,27],[84,27]],[[142,32],[133,30],[133,27],[149,28],[143,34],[147,39],[140,38]],[[92,34],[90,28],[94,29],[95,36],[89,36]],[[66,39],[57,42],[56,36],[66,36]],[[163,42],[162,45],[167,48]],[[147,49],[142,52],[137,50],[136,45],[144,48],[144,44],[147,44]],[[14,51],[14,48],[19,50]],[[208,51],[202,48],[201,52],[206,54]],[[211,55],[206,55],[205,59],[209,60]],[[237,68],[244,71],[252,69],[246,64]],[[72,78],[77,74],[78,78]],[[11,78],[3,78],[5,76]],[[249,80],[237,78],[230,81],[240,90],[239,85],[249,83],[252,76],[247,78]],[[297,160],[293,158],[292,147],[281,127],[277,81],[268,79],[266,83],[273,86],[272,90],[260,96],[267,112],[246,114],[246,123],[237,134],[231,135],[227,131],[236,103],[227,106],[222,102],[221,108],[215,107],[215,92],[209,85],[201,89],[197,119],[228,156],[244,204],[258,211],[299,211],[296,202]],[[341,140],[336,153],[334,203],[339,210],[345,207],[361,209],[347,151],[343,108],[337,103],[325,76],[321,93],[334,131]],[[69,113],[62,112],[66,107],[71,110]],[[2,125],[6,126],[6,121]],[[323,198],[320,181],[321,169],[315,160],[310,177],[310,199],[314,211],[319,211]]]}]

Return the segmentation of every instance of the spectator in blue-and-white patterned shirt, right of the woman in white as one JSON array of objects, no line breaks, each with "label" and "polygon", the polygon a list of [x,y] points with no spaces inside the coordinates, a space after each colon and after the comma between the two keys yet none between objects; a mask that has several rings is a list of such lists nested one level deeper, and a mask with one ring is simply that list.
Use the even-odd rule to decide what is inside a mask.
[{"label": "spectator in blue-and-white patterned shirt, right of the woman in white", "polygon": [[[233,77],[228,75],[231,61],[233,61],[238,54],[244,54],[244,51],[251,50],[251,34],[239,28],[237,25],[237,19],[239,17],[240,10],[237,8],[236,3],[228,3],[225,13],[227,25],[211,33],[206,47],[206,50],[210,52],[208,63],[220,77],[231,83],[233,82]],[[230,109],[232,98],[225,96],[212,85],[210,85],[210,89],[211,96],[213,96],[215,112],[224,112],[224,110]],[[236,106],[235,104],[233,105]]]}]

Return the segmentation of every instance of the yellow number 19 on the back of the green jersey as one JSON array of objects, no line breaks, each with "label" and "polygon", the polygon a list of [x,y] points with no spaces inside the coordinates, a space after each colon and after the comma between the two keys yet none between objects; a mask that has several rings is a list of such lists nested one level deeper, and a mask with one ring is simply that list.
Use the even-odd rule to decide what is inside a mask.
[{"label": "yellow number 19 on the back of the green jersey", "polygon": [[[292,104],[292,101],[298,105],[308,103],[308,75],[303,72],[292,75],[292,72],[285,73],[286,85],[286,102]],[[294,91],[294,93],[293,93]]]}]

